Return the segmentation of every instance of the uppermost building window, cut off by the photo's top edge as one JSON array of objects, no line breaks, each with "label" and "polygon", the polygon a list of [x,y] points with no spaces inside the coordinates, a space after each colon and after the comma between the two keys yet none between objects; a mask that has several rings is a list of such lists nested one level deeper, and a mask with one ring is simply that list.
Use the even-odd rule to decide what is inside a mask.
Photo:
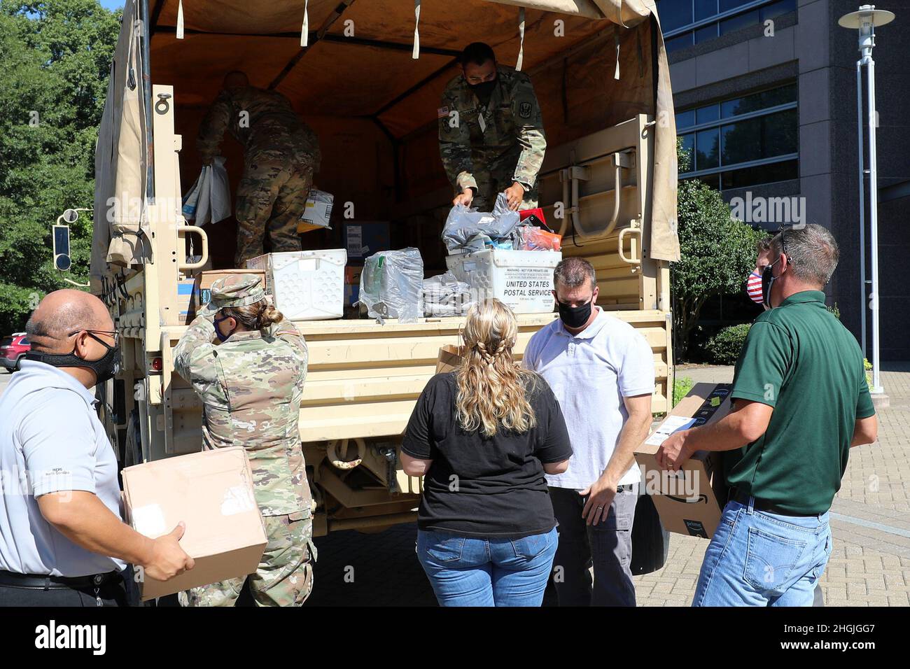
[{"label": "uppermost building window, cut off by the photo's top edge", "polygon": [[796,11],[796,0],[657,0],[667,53]]}]

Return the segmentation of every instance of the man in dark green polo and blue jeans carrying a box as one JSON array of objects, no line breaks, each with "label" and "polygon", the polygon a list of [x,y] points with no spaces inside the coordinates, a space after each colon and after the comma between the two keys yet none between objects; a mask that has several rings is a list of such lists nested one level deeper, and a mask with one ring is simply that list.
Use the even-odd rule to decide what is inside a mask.
[{"label": "man in dark green polo and blue jeans carrying a box", "polygon": [[704,554],[693,606],[811,606],[831,555],[828,510],[850,448],[878,421],[854,336],[824,308],[839,251],[808,225],[771,241],[763,271],[770,307],[749,330],[733,378],[733,411],[663,442],[676,471],[694,451],[728,451],[731,486]]}]

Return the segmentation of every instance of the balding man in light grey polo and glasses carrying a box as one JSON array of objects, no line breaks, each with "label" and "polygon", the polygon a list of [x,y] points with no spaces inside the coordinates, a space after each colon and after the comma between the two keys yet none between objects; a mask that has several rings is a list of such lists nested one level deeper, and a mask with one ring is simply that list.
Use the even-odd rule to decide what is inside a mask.
[{"label": "balding man in light grey polo and glasses carrying a box", "polygon": [[57,290],[26,326],[32,350],[0,396],[0,605],[125,605],[121,572],[193,566],[183,523],[152,540],[122,520],[117,462],[89,392],[116,373],[104,303]]}]

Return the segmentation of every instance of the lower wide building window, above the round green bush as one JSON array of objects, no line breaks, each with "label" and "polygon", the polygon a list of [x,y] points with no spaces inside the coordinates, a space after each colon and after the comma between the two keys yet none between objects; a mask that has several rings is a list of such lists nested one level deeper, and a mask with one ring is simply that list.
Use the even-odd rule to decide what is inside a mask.
[{"label": "lower wide building window, above the round green bush", "polygon": [[680,178],[719,190],[797,178],[798,128],[795,84],[683,109]]}]

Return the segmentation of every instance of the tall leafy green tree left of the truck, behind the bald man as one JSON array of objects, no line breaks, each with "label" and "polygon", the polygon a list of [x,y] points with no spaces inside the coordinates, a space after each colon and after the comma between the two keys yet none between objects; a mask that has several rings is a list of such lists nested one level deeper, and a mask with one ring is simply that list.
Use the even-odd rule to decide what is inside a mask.
[{"label": "tall leafy green tree left of the truck, behind the bald man", "polygon": [[[95,143],[120,12],[97,0],[0,0],[0,335],[46,292],[51,226],[94,201]],[[71,226],[69,279],[85,283],[92,218]]]}]

